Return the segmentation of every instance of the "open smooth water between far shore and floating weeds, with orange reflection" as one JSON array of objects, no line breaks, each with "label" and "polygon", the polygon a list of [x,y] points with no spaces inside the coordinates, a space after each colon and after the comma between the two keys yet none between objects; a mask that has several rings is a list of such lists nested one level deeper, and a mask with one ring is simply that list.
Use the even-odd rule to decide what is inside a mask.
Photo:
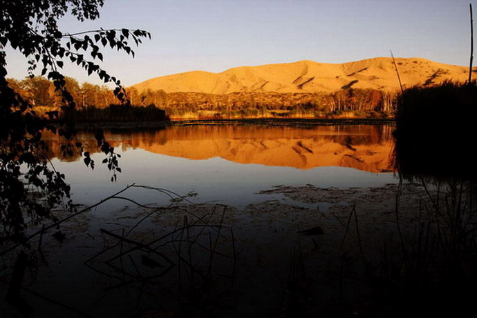
[{"label": "open smooth water between far shore and floating weeds, with orange reflection", "polygon": [[[65,173],[76,202],[91,204],[128,184],[189,192],[196,203],[243,206],[270,199],[256,192],[273,186],[373,187],[394,183],[392,126],[172,126],[163,129],[109,130],[108,139],[122,157],[118,181],[94,153],[95,170],[77,157],[62,159],[59,141],[49,139],[55,168]],[[93,133],[79,134],[87,150]],[[155,191],[128,193],[142,203],[169,199]],[[121,202],[124,204],[124,202]]]}]

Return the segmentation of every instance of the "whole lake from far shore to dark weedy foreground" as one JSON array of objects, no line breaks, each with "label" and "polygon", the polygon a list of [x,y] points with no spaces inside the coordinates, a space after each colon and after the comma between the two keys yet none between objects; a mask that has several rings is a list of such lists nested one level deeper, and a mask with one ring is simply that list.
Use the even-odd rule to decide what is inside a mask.
[{"label": "whole lake from far shore to dark weedy foreground", "polygon": [[[397,186],[393,129],[237,121],[106,130],[121,155],[116,182],[92,130],[77,137],[94,170],[78,153],[62,157],[59,139],[45,134],[75,203],[92,205],[132,183],[153,188],[129,188],[121,194],[129,201],[106,201],[62,223],[62,241],[53,229],[35,240],[41,275],[28,275],[25,285],[69,308],[32,296],[33,317],[73,310],[83,317],[210,317],[200,310],[279,317],[294,312],[292,297],[304,291],[310,312],[373,297],[356,277],[368,262],[380,264],[382,244],[396,254],[400,235],[413,237],[425,195],[413,184]],[[290,291],[294,281],[301,287]]]}]

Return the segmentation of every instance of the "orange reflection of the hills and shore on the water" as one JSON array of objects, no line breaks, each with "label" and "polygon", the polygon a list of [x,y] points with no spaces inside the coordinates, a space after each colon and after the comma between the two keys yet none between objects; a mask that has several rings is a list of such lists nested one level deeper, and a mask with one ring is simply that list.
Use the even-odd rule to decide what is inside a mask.
[{"label": "orange reflection of the hills and shore on the water", "polygon": [[[106,139],[122,151],[144,149],[193,160],[221,157],[235,163],[256,163],[309,169],[320,166],[355,168],[368,172],[392,170],[392,126],[171,126],[163,129],[109,130]],[[97,152],[93,132],[78,139],[85,150]],[[48,138],[50,155],[62,160],[60,141]]]}]

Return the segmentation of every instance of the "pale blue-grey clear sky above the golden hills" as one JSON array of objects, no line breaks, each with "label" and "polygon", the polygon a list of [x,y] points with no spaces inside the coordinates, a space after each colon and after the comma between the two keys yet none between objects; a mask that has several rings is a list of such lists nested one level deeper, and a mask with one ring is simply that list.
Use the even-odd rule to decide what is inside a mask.
[{"label": "pale blue-grey clear sky above the golden hills", "polygon": [[[190,70],[302,59],[344,63],[389,57],[389,50],[395,57],[469,63],[468,0],[106,0],[100,12],[100,19],[84,23],[66,17],[60,27],[151,32],[135,59],[104,50],[102,66],[125,86]],[[25,77],[24,58],[11,49],[7,54],[8,77]],[[75,66],[65,66],[64,74],[102,83]]]}]

